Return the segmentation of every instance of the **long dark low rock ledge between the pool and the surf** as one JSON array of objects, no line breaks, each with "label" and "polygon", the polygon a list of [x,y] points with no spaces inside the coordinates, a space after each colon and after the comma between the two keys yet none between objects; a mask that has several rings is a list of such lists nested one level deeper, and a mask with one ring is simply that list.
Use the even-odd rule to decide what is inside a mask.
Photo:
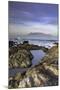
[{"label": "long dark low rock ledge between the pool and the surf", "polygon": [[9,48],[9,56],[18,52],[19,50],[43,50],[44,52],[48,51],[48,48],[38,45],[29,44],[28,41],[24,41],[23,44],[18,44],[17,46],[13,46]]}]

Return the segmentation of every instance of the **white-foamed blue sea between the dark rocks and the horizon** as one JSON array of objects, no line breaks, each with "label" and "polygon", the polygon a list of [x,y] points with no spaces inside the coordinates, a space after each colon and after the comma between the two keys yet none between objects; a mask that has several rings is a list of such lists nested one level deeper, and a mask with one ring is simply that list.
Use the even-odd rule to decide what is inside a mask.
[{"label": "white-foamed blue sea between the dark rocks and the horizon", "polygon": [[38,46],[44,46],[46,48],[51,48],[52,46],[54,46],[56,42],[58,42],[58,40],[39,40],[39,39],[22,39],[22,40],[13,40],[15,42],[17,42],[17,44],[23,43],[23,41],[29,41],[29,44],[34,44],[34,45],[38,45]]}]

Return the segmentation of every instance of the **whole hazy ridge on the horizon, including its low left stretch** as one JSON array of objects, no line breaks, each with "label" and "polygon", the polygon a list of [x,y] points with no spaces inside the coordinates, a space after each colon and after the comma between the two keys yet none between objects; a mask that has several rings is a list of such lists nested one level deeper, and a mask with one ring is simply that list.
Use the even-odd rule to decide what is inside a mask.
[{"label": "whole hazy ridge on the horizon, including its low left stretch", "polygon": [[27,35],[17,35],[14,37],[14,40],[58,40],[57,36],[53,36],[51,34],[45,34],[45,33],[29,33]]}]

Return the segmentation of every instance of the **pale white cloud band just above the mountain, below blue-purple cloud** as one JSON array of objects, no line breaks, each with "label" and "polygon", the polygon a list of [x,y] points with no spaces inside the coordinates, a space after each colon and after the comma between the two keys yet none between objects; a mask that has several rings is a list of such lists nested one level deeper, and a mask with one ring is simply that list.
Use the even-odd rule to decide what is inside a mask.
[{"label": "pale white cloud band just above the mountain, below blue-purple cloud", "polygon": [[19,24],[9,24],[9,34],[10,35],[23,35],[30,32],[41,32],[51,35],[57,35],[58,26],[51,24],[41,24],[28,22],[26,25]]}]

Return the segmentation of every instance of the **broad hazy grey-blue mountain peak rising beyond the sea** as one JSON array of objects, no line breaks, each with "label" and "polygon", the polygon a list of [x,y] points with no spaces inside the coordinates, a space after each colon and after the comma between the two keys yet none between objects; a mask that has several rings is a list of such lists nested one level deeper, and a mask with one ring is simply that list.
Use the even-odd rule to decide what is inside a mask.
[{"label": "broad hazy grey-blue mountain peak rising beyond the sea", "polygon": [[53,36],[45,33],[29,33],[25,36],[25,39],[39,39],[39,40],[58,40],[57,36]]}]

